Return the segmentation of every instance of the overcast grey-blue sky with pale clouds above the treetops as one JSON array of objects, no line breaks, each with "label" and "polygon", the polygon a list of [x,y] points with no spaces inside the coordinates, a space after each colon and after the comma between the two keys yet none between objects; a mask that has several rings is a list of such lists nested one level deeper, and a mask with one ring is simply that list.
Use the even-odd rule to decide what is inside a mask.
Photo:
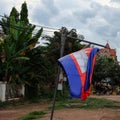
[{"label": "overcast grey-blue sky with pale clouds above the treetops", "polygon": [[[19,11],[25,0],[0,0],[0,15]],[[26,0],[33,24],[75,28],[88,41],[116,49],[120,61],[120,0]]]}]

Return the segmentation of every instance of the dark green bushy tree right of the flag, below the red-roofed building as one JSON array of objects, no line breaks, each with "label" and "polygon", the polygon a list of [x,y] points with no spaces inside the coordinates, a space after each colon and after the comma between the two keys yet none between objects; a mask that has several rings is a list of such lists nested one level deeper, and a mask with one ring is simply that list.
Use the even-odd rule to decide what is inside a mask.
[{"label": "dark green bushy tree right of the flag, below the red-roofed building", "polygon": [[110,78],[111,85],[120,85],[120,66],[118,62],[108,57],[97,57],[93,74],[93,82],[102,82]]}]

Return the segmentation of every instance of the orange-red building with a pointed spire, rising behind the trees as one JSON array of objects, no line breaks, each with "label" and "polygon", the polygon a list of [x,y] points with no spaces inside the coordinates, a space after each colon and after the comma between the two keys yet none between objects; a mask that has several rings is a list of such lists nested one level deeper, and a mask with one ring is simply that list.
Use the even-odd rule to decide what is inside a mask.
[{"label": "orange-red building with a pointed spire, rising behind the trees", "polygon": [[100,56],[110,57],[113,60],[117,61],[116,49],[111,49],[109,43],[105,45],[105,48],[100,49],[98,54]]}]

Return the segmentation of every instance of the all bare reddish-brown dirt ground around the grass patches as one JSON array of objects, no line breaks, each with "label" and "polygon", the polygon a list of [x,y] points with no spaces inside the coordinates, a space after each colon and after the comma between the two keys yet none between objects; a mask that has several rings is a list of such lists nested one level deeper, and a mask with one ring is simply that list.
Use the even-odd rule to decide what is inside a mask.
[{"label": "all bare reddish-brown dirt ground around the grass patches", "polygon": [[[90,96],[120,101],[120,96]],[[47,103],[23,105],[20,107],[0,110],[0,120],[17,120],[32,111],[45,110],[50,105]],[[50,112],[44,118],[37,120],[50,120]],[[120,120],[120,109],[64,109],[55,110],[53,120]]]}]

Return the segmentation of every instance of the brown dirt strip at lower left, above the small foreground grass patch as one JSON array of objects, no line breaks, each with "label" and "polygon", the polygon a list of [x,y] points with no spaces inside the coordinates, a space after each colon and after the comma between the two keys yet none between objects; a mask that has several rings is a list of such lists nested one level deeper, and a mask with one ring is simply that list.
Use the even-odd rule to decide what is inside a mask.
[{"label": "brown dirt strip at lower left, above the small foreground grass patch", "polygon": [[16,120],[32,111],[41,111],[48,108],[48,104],[27,104],[20,107],[8,108],[0,110],[0,120]]}]

